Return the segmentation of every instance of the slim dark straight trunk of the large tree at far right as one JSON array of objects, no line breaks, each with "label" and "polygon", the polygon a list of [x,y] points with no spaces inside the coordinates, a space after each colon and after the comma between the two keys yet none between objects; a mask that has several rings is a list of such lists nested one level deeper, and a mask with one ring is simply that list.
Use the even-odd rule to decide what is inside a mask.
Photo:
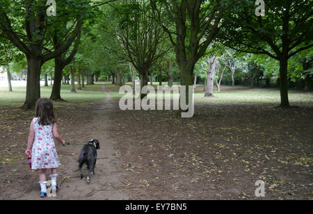
[{"label": "slim dark straight trunk of the large tree at far right", "polygon": [[288,58],[280,60],[280,107],[289,107],[288,85],[287,85]]}]

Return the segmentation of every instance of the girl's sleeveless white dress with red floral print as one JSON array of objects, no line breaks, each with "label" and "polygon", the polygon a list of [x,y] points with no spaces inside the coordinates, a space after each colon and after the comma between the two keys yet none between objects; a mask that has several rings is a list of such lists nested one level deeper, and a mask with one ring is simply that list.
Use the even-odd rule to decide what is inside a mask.
[{"label": "girl's sleeveless white dress with red floral print", "polygon": [[33,119],[35,141],[31,152],[31,169],[51,169],[61,165],[54,145],[53,124],[42,126],[38,117]]}]

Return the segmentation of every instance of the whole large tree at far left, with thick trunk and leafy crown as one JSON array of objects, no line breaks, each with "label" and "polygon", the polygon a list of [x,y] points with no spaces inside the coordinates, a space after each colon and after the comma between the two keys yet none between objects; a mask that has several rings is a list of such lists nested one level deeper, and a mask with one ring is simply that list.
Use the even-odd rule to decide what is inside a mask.
[{"label": "whole large tree at far left, with thick trunk and leafy crown", "polygon": [[[86,1],[58,1],[56,17],[48,17],[47,1],[0,1],[0,28],[3,36],[22,51],[27,59],[27,86],[26,99],[22,108],[29,109],[35,106],[40,98],[40,70],[43,63],[60,56],[67,51],[77,38],[82,22],[81,11],[86,11]],[[88,4],[88,2],[87,2]],[[71,8],[68,10],[68,8]],[[63,44],[54,51],[49,38],[54,29],[62,26],[63,15],[77,17],[73,28],[67,33]],[[22,21],[24,20],[24,22]]]}]

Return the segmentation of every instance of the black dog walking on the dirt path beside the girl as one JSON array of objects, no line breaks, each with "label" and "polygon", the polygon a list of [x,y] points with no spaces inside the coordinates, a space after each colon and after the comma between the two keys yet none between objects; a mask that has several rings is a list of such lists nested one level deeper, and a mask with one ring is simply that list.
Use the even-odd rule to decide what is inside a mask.
[{"label": "black dog walking on the dirt path beside the girl", "polygon": [[79,172],[81,172],[81,180],[83,180],[83,164],[87,164],[88,176],[87,183],[90,183],[90,173],[95,174],[95,164],[97,162],[97,149],[100,149],[99,140],[90,140],[87,145],[83,146],[79,154]]}]

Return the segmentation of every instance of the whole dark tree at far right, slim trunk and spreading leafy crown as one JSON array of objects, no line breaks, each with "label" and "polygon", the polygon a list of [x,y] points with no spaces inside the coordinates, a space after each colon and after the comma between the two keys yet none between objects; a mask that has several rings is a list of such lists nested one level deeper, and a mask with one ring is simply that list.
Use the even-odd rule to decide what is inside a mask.
[{"label": "whole dark tree at far right, slim trunk and spreading leafy crown", "polygon": [[236,2],[220,41],[247,53],[267,54],[280,63],[280,106],[289,107],[288,60],[313,47],[313,1],[266,1],[265,16],[255,15],[254,1]]}]

